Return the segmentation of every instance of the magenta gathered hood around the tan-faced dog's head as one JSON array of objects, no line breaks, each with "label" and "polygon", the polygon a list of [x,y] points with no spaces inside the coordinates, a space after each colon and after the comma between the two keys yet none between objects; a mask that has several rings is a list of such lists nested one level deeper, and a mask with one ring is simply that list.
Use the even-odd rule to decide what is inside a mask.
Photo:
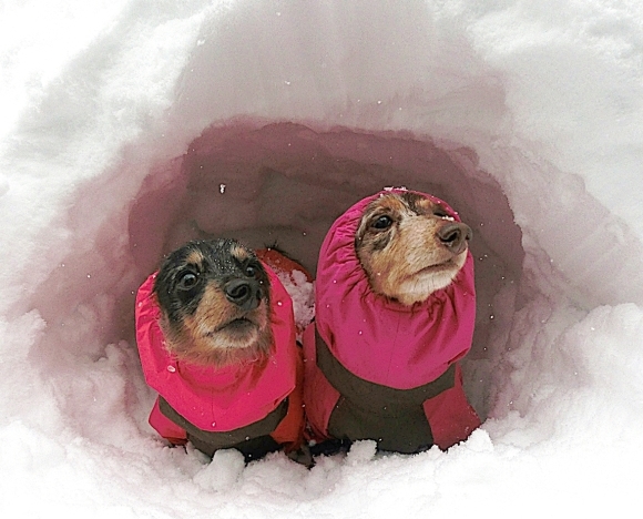
[{"label": "magenta gathered hood around the tan-faced dog's head", "polygon": [[[317,266],[317,330],[353,374],[396,389],[410,389],[439,377],[471,347],[476,320],[473,260],[468,253],[451,285],[411,307],[372,293],[354,242],[364,208],[382,193],[355,204],[326,235]],[[445,202],[419,194],[439,202],[460,221]]]}]

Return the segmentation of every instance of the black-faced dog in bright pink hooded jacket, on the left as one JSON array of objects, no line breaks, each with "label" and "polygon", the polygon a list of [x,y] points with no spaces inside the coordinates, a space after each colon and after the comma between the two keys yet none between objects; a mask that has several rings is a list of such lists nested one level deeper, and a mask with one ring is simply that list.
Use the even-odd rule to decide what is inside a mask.
[{"label": "black-faced dog in bright pink hooded jacket, on the left", "polygon": [[290,297],[234,240],[171,253],[136,297],[145,379],[159,391],[151,425],[174,444],[246,459],[299,447],[302,359]]}]

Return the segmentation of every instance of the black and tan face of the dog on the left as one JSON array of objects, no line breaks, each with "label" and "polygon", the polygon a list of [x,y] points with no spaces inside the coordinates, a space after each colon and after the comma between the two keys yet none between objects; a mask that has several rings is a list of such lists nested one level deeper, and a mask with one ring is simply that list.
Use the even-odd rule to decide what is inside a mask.
[{"label": "black and tan face of the dog on the left", "polygon": [[207,366],[267,358],[269,287],[254,252],[234,240],[191,242],[174,251],[154,284],[167,349]]}]

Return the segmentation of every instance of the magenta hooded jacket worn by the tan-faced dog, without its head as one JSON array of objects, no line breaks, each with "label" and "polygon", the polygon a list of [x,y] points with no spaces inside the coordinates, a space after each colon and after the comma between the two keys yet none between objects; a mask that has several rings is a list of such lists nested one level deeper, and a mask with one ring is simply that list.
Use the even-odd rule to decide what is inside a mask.
[{"label": "magenta hooded jacket worn by the tan-faced dog, without its head", "polygon": [[[419,194],[440,203],[459,221],[458,214],[442,201]],[[451,285],[410,307],[375,294],[355,252],[355,232],[365,207],[379,195],[369,196],[346,211],[322,245],[316,279],[316,330],[309,326],[304,337],[307,418],[315,439],[336,437],[343,426],[338,424],[333,435],[329,421],[333,413],[341,407],[340,398],[357,400],[356,406],[361,408],[358,400],[364,404],[376,398],[374,395],[379,388],[391,395],[390,398],[404,399],[404,394],[396,390],[408,391],[435,381],[425,393],[430,398],[423,403],[420,398],[420,403],[430,426],[428,436],[432,436],[429,444],[448,448],[466,439],[480,425],[467,401],[456,365],[471,347],[476,319],[473,261],[468,253],[463,268]],[[327,348],[324,363],[319,358],[320,347]],[[328,380],[337,375],[325,370],[335,374],[340,370],[344,379],[349,372],[356,380],[348,385],[339,380],[335,386],[343,387],[337,388]],[[370,384],[356,386],[359,380]],[[345,395],[344,387],[348,393],[368,394]],[[396,415],[395,420],[398,418]],[[351,438],[350,434],[347,437],[359,439]],[[415,451],[398,448],[395,438],[388,445],[392,446],[391,450]]]}]

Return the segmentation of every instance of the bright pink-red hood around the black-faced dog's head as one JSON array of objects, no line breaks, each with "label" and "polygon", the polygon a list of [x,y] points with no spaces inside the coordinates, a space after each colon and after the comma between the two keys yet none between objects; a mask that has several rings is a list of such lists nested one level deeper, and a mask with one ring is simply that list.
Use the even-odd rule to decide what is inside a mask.
[{"label": "bright pink-red hood around the black-faced dog's head", "polygon": [[[152,274],[136,295],[136,342],[147,384],[185,419],[203,430],[229,431],[265,418],[296,386],[298,352],[293,303],[277,276],[267,267],[273,305],[273,355],[263,365],[245,363],[220,369],[178,362],[164,347],[159,325],[161,311],[152,293]],[[165,438],[184,438],[159,411],[151,425]],[[178,436],[182,434],[182,436]]]}]

